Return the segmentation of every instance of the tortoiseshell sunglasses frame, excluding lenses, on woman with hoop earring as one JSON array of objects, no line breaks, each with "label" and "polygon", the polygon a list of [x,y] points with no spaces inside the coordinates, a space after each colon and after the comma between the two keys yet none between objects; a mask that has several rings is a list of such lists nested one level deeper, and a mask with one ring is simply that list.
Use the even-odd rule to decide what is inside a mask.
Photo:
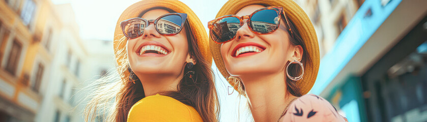
[{"label": "tortoiseshell sunglasses frame, excluding lenses, on woman with hoop earring", "polygon": [[[257,13],[257,12],[260,12],[260,11],[263,11],[263,10],[274,10],[274,11],[276,11],[276,13],[277,13],[277,16],[278,16],[278,19],[279,20],[281,20],[281,15],[283,15],[284,16],[284,18],[285,18],[285,20],[286,20],[286,24],[288,24],[288,28],[289,28],[289,32],[291,33],[290,35],[292,36],[292,37],[294,37],[294,33],[292,32],[292,29],[291,29],[291,26],[289,25],[289,21],[288,21],[288,18],[286,17],[286,14],[284,13],[284,11],[283,11],[283,8],[282,7],[266,7],[266,8],[262,8],[262,9],[258,9],[258,10],[256,10],[256,11],[254,11],[252,14],[250,14],[250,15],[244,15],[244,16],[241,16],[241,17],[239,17],[239,16],[237,16],[237,15],[224,15],[224,16],[221,16],[221,17],[218,17],[218,18],[216,18],[216,19],[214,19],[214,20],[211,20],[211,21],[209,21],[208,22],[208,28],[209,28],[209,34],[211,35],[211,37],[212,37],[212,33],[213,33],[213,31],[211,31],[211,29],[214,27],[214,23],[216,22],[216,21],[219,21],[219,20],[221,20],[221,19],[223,19],[223,18],[227,18],[227,17],[235,17],[235,18],[238,18],[239,20],[240,20],[240,27],[241,26],[243,26],[243,20],[244,19],[247,19],[246,20],[246,23],[248,23],[247,25],[248,25],[248,27],[249,27],[249,29],[250,29],[250,31],[252,32],[252,33],[255,33],[255,34],[270,34],[270,33],[273,33],[273,32],[275,32],[276,30],[277,30],[277,28],[279,28],[279,26],[280,26],[280,22],[277,24],[277,26],[271,31],[271,32],[267,32],[267,33],[260,33],[260,32],[257,32],[257,31],[254,31],[253,30],[253,28],[252,28],[252,24],[250,24],[250,23],[252,23],[251,22],[251,18],[252,18],[252,16],[255,14],[255,13]],[[229,42],[229,41],[231,41],[231,40],[233,40],[234,38],[236,38],[236,35],[234,35],[234,37],[232,38],[232,39],[230,39],[230,40],[227,40],[227,41],[224,41],[224,42],[217,42],[217,41],[215,41],[215,39],[213,39],[214,40],[214,42],[215,43],[217,43],[217,44],[222,44],[222,43],[225,43],[225,42]]]}]

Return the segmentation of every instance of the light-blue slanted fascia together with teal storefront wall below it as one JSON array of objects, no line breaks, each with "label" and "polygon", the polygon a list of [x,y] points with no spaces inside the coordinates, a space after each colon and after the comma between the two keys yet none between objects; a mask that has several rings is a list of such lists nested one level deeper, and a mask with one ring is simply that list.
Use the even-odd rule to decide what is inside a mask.
[{"label": "light-blue slanted fascia together with teal storefront wall below it", "polygon": [[331,81],[346,65],[352,65],[349,61],[401,2],[392,0],[384,6],[379,0],[365,1],[337,37],[334,47],[321,59],[319,74],[310,93],[321,95],[328,90],[322,97],[329,101],[339,99],[338,103],[331,103],[339,105],[349,121],[366,121],[360,77],[347,74],[342,81]]}]

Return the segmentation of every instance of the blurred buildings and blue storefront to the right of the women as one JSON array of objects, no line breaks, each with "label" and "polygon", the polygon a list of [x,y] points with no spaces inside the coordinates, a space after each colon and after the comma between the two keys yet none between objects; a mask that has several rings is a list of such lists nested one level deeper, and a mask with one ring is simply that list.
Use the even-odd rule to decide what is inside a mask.
[{"label": "blurred buildings and blue storefront to the right of the women", "polygon": [[297,1],[321,51],[310,93],[349,121],[426,121],[425,1]]}]

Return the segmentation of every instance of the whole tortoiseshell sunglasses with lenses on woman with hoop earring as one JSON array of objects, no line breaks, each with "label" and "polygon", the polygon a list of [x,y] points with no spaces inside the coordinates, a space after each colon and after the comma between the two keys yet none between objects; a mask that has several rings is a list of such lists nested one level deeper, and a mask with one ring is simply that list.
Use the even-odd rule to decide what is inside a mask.
[{"label": "whole tortoiseshell sunglasses with lenses on woman with hoop earring", "polygon": [[218,17],[209,21],[209,34],[213,41],[218,44],[231,41],[236,37],[237,30],[243,25],[244,19],[247,19],[246,23],[253,33],[270,34],[279,27],[281,15],[284,16],[290,35],[293,37],[288,18],[282,7],[266,7],[242,17],[236,15]]}]

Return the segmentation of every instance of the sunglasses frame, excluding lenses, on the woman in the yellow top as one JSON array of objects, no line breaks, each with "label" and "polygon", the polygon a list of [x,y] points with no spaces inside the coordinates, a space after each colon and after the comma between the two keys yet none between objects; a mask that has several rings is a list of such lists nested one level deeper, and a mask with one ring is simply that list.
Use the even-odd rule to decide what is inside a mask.
[{"label": "sunglasses frame, excluding lenses, on the woman in the yellow top", "polygon": [[[159,31],[159,29],[157,29],[157,22],[158,22],[161,18],[166,17],[166,16],[171,16],[171,15],[178,15],[178,16],[180,16],[180,17],[181,17],[181,19],[182,19],[182,20],[184,20],[184,21],[182,21],[182,23],[181,23],[181,27],[180,27],[179,31],[177,31],[176,33],[173,33],[173,34],[163,34],[163,33],[161,33],[161,32]],[[126,32],[125,32],[125,25],[126,25],[129,21],[132,21],[132,20],[142,20],[142,21],[144,21],[144,22],[146,23],[146,26],[144,27],[144,29],[145,29],[146,27],[148,27],[148,26],[150,25],[150,23],[153,23],[153,24],[154,24],[154,28],[156,28],[157,33],[159,33],[159,34],[161,34],[161,35],[165,35],[165,36],[173,36],[173,35],[177,35],[178,33],[180,33],[180,32],[181,32],[182,28],[184,27],[184,23],[185,23],[185,21],[187,21],[187,14],[185,14],[185,13],[168,13],[168,14],[164,14],[164,15],[162,15],[162,16],[160,16],[160,17],[158,17],[158,18],[157,18],[157,19],[155,19],[155,20],[147,20],[147,19],[140,18],[140,17],[135,17],[135,18],[130,18],[130,19],[124,20],[124,21],[120,22],[120,27],[122,28],[123,35],[125,35],[125,37],[127,37],[127,38],[129,38],[129,39],[138,38],[138,37],[140,37],[140,36],[143,36],[143,35],[144,35],[144,33],[141,33],[141,35],[138,35],[138,36],[136,36],[136,37],[131,38],[131,37],[129,37],[129,36],[126,34]]]}]

